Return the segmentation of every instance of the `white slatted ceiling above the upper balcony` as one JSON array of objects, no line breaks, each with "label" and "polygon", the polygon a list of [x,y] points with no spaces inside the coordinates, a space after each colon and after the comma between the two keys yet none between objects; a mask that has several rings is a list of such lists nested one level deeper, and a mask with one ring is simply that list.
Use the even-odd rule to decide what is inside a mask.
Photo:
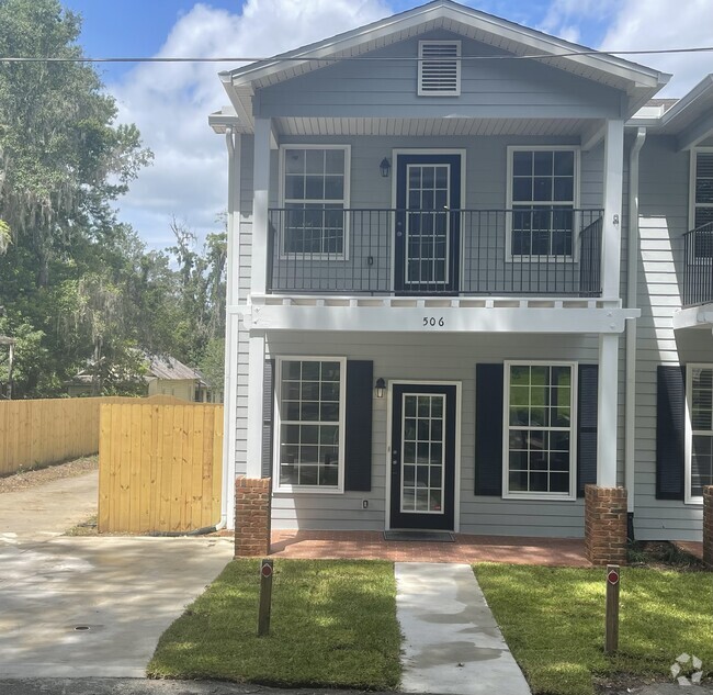
[{"label": "white slatted ceiling above the upper balcony", "polygon": [[581,136],[593,121],[586,119],[276,119],[281,135],[552,135]]}]

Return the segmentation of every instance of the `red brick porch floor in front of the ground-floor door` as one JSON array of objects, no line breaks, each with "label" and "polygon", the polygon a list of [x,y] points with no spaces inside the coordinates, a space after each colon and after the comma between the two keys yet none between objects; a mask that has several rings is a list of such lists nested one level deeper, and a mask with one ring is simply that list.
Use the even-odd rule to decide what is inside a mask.
[{"label": "red brick porch floor in front of the ground-floor door", "polygon": [[394,562],[509,562],[588,568],[582,538],[454,534],[455,542],[387,541],[382,531],[273,530],[271,556]]}]

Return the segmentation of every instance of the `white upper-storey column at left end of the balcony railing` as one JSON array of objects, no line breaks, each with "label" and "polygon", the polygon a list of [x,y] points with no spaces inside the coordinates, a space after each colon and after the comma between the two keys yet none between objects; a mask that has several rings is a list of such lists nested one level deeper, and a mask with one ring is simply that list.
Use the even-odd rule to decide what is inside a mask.
[{"label": "white upper-storey column at left end of the balcony railing", "polygon": [[250,264],[253,294],[265,293],[268,266],[268,203],[270,191],[270,119],[256,119],[254,161],[252,169],[254,197],[252,202],[252,258]]}]

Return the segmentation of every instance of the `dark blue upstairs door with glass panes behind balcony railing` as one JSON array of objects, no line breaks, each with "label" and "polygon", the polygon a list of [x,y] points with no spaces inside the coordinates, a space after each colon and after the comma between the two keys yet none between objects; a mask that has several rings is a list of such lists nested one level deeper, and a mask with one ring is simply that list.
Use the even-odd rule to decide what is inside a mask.
[{"label": "dark blue upstairs door with glass panes behind balcony railing", "polygon": [[457,293],[461,155],[397,155],[396,208],[396,293]]}]

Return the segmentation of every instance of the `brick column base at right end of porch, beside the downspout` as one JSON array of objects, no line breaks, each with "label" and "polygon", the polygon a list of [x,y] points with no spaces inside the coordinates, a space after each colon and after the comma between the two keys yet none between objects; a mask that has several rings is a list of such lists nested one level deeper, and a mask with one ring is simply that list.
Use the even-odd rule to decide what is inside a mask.
[{"label": "brick column base at right end of porch, beside the downspout", "polygon": [[623,487],[585,487],[585,549],[592,564],[626,564],[626,491]]}]

